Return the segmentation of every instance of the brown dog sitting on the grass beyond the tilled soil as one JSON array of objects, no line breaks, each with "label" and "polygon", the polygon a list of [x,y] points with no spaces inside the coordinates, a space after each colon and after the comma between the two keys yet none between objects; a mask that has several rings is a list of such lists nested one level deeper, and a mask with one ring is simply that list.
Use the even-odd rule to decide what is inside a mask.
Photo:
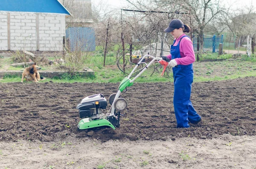
[{"label": "brown dog sitting on the grass beyond the tilled soil", "polygon": [[21,78],[21,83],[23,83],[23,79],[25,77],[26,81],[34,81],[38,82],[39,80],[44,80],[44,77],[40,77],[40,74],[38,70],[40,70],[41,67],[38,67],[36,63],[34,63],[32,66],[27,67],[23,73]]}]

